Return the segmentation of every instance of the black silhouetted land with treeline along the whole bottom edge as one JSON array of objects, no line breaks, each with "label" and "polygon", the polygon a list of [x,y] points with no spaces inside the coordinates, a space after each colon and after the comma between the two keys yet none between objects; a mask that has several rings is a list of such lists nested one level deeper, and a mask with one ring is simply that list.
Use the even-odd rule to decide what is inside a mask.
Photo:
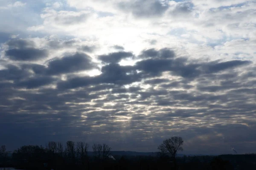
[{"label": "black silhouetted land with treeline along the whole bottom edge", "polygon": [[[51,145],[53,144],[53,145]],[[56,145],[55,145],[56,144]],[[88,151],[84,142],[49,142],[46,147],[22,146],[13,153],[1,152],[0,167],[19,170],[256,170],[256,154],[186,156],[169,154],[111,151],[106,144],[94,144]]]}]

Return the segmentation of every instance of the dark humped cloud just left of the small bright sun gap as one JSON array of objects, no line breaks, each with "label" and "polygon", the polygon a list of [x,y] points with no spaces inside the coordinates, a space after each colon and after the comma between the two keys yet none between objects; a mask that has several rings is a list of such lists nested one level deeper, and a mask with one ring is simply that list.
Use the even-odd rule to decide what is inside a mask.
[{"label": "dark humped cloud just left of the small bright sun gap", "polygon": [[93,68],[97,67],[87,54],[76,53],[74,55],[64,56],[60,59],[49,61],[47,74],[73,73]]}]

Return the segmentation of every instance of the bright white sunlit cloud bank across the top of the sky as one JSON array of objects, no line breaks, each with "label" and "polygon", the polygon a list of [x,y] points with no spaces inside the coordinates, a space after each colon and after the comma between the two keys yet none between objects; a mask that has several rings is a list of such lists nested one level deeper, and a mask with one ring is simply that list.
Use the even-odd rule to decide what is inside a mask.
[{"label": "bright white sunlit cloud bank across the top of the sky", "polygon": [[[68,34],[96,40],[102,46],[122,44],[135,53],[141,48],[149,48],[149,42],[157,38],[154,47],[180,48],[192,57],[212,56],[212,59],[221,58],[223,53],[227,53],[225,43],[255,37],[256,4],[252,1],[208,0],[204,1],[204,5],[201,1],[170,1],[169,9],[157,18],[138,18],[130,12],[125,13],[126,9],[116,8],[116,4],[120,2],[68,0],[67,4],[78,11],[55,11],[47,8],[41,14],[44,23],[30,27],[29,31]],[[122,2],[136,3],[134,0]],[[225,8],[219,8],[221,6]],[[212,48],[216,45],[218,50]],[[244,51],[241,48],[230,46],[228,50],[233,53]],[[249,45],[247,51],[253,51],[253,46]],[[252,52],[250,55],[256,57]]]}]

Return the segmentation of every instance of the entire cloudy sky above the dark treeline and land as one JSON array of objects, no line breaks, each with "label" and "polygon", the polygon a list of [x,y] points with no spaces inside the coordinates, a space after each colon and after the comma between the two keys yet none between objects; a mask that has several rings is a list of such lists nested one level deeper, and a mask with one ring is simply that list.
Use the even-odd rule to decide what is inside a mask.
[{"label": "entire cloudy sky above the dark treeline and land", "polygon": [[255,48],[254,0],[0,0],[0,145],[256,153]]}]

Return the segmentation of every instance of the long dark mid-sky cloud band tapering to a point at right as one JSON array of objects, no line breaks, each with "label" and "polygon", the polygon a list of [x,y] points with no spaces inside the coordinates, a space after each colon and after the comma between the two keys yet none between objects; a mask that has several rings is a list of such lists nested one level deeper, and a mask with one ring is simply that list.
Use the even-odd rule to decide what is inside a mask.
[{"label": "long dark mid-sky cloud band tapering to a point at right", "polygon": [[[131,56],[131,53],[116,52],[109,55],[100,56],[99,58],[105,62],[113,62],[102,67],[102,74],[96,77],[76,77],[60,82],[58,85],[62,88],[78,88],[96,84],[114,84],[127,85],[133,82],[141,81],[142,78],[161,76],[164,71],[170,74],[183,77],[184,79],[195,79],[200,75],[211,74],[226,70],[229,68],[239,67],[241,65],[250,64],[248,61],[230,61],[230,62],[211,62],[211,63],[189,63],[188,59],[176,57],[169,48],[163,48],[159,51],[149,49],[142,52],[140,57],[146,59],[139,61],[134,66],[121,66],[115,62],[120,61],[122,57]],[[137,72],[142,71],[142,72]],[[153,82],[154,81],[154,82]],[[190,81],[190,80],[189,80]],[[145,83],[156,84],[168,82],[168,79],[147,80]],[[180,84],[172,82],[171,84],[162,85],[162,87],[183,87],[192,88],[192,85]],[[206,88],[206,87],[204,87]]]}]

